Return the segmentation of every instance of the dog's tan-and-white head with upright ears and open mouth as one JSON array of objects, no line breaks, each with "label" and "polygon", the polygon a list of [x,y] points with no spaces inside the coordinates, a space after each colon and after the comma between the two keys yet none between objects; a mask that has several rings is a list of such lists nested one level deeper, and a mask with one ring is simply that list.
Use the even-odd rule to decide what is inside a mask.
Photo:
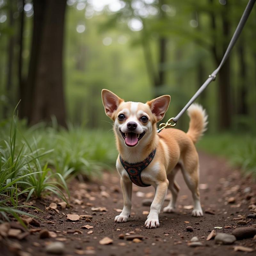
[{"label": "dog's tan-and-white head with upright ears and open mouth", "polygon": [[163,119],[171,97],[164,95],[147,103],[125,102],[113,92],[103,89],[102,102],[107,116],[114,121],[117,138],[128,147],[148,143],[156,123]]}]

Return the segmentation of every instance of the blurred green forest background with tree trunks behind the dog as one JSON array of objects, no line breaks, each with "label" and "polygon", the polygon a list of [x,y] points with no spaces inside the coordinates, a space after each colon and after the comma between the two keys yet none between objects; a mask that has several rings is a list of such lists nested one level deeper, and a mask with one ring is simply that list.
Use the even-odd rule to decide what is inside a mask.
[{"label": "blurred green forest background with tree trunks behind the dog", "polygon": [[[70,155],[62,152],[59,162],[77,157],[75,153],[91,145],[93,161],[113,164],[114,139],[107,132],[112,126],[104,113],[101,90],[142,102],[170,94],[166,118],[175,116],[219,65],[247,3],[0,0],[2,137],[8,134],[3,131],[8,130],[7,121],[21,100],[20,129],[28,137],[41,135],[38,143],[44,148],[61,145],[55,152],[65,151],[44,124],[50,124],[56,136],[57,124],[69,128],[61,132],[70,140],[66,145]],[[255,29],[254,7],[230,58],[197,101],[209,114],[208,133],[199,147],[233,157],[235,164],[256,172]],[[187,125],[184,115],[177,128],[187,130]],[[77,147],[76,140],[84,142]]]}]

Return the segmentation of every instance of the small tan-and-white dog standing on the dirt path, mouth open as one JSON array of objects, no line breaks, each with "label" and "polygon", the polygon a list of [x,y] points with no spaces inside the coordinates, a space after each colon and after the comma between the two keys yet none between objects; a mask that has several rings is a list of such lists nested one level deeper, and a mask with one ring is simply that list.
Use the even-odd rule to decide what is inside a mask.
[{"label": "small tan-and-white dog standing on the dirt path, mouth open", "polygon": [[155,198],[145,222],[146,228],[159,227],[158,215],[169,188],[172,200],[164,212],[174,212],[179,186],[174,178],[181,170],[191,190],[194,209],[192,215],[203,216],[198,189],[199,159],[195,143],[206,130],[207,115],[202,106],[188,108],[189,129],[164,129],[157,133],[156,123],[163,119],[171,97],[164,95],[147,103],[125,102],[113,92],[102,90],[102,101],[107,116],[114,121],[114,132],[119,156],[116,168],[121,176],[124,208],[115,222],[126,222],[132,207],[132,182],[138,186],[152,185]]}]

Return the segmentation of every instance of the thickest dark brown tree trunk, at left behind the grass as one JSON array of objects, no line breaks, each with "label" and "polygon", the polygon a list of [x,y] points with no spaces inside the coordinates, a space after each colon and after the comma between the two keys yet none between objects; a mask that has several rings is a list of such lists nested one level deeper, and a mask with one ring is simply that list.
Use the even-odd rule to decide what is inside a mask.
[{"label": "thickest dark brown tree trunk, at left behind the grass", "polygon": [[26,86],[29,124],[56,116],[66,126],[63,88],[63,32],[66,1],[34,0],[34,29]]}]

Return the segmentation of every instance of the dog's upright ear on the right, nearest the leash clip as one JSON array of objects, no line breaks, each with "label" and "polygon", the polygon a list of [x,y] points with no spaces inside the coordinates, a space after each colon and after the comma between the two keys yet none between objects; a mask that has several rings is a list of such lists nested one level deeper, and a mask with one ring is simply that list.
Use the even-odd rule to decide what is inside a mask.
[{"label": "dog's upright ear on the right, nearest the leash clip", "polygon": [[147,102],[152,113],[156,115],[157,122],[164,118],[164,114],[169,107],[170,101],[171,101],[171,96],[164,95]]}]

